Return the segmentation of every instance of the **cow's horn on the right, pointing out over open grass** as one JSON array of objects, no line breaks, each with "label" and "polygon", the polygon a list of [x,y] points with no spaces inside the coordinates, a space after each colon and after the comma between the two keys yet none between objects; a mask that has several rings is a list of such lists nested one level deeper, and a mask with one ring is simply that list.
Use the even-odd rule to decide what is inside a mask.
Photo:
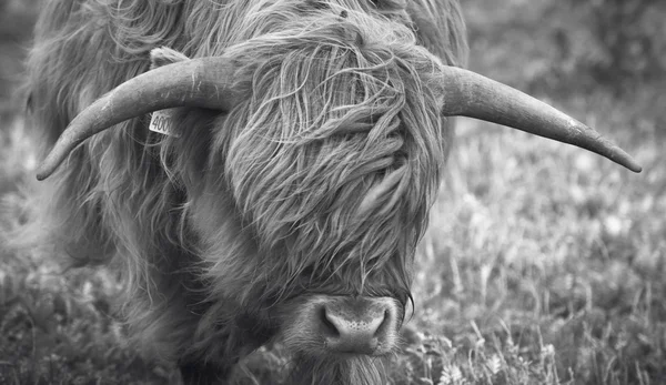
[{"label": "cow's horn on the right, pointing out over open grass", "polygon": [[598,132],[516,89],[455,67],[444,67],[442,75],[444,115],[511,126],[596,152],[634,172],[642,171],[632,155]]}]

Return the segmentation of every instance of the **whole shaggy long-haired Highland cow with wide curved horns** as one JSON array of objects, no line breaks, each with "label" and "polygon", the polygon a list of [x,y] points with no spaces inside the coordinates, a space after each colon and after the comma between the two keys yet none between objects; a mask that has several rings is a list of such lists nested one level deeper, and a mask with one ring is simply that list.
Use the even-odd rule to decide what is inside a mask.
[{"label": "whole shaggy long-haired Highland cow with wide curved horns", "polygon": [[[28,233],[115,264],[128,335],[185,383],[224,381],[276,340],[290,383],[379,384],[451,143],[443,116],[639,170],[456,68],[464,33],[456,0],[49,1],[28,84],[48,180]],[[148,130],[158,110],[171,135]]]}]

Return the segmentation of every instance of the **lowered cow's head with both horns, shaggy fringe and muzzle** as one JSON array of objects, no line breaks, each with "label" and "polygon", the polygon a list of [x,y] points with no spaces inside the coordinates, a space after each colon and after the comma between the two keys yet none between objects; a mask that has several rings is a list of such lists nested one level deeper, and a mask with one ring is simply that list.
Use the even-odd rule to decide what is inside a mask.
[{"label": "lowered cow's head with both horns, shaggy fringe and muzzle", "polygon": [[391,18],[313,7],[275,26],[221,57],[153,51],[168,64],[79,114],[38,178],[98,132],[176,109],[180,138],[164,142],[164,169],[185,186],[210,296],[264,320],[311,368],[333,359],[355,373],[369,366],[350,357],[395,348],[448,145],[442,116],[509,125],[639,170],[564,113],[443,64]]}]

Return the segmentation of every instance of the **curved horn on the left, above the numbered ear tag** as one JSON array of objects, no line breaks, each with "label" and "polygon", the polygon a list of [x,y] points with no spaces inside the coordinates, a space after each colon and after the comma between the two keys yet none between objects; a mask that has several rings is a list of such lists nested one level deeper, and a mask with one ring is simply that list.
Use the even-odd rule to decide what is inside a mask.
[{"label": "curved horn on the left, above the numbered ear tag", "polygon": [[231,89],[234,73],[235,67],[226,58],[201,58],[163,65],[128,80],[70,122],[39,166],[37,179],[51,175],[85,139],[128,119],[175,107],[229,111],[238,100]]}]

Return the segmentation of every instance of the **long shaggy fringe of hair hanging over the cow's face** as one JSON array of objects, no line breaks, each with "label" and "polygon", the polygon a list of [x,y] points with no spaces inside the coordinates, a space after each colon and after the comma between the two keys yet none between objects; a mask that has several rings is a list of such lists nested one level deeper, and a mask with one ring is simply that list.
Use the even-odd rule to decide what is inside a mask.
[{"label": "long shaggy fringe of hair hanging over the cow's face", "polygon": [[352,285],[387,260],[407,266],[438,184],[443,133],[424,87],[438,64],[406,28],[364,19],[315,14],[225,53],[249,63],[252,97],[218,131],[212,153],[226,159],[210,175],[224,176],[259,253],[285,244],[289,257],[262,261],[280,288],[307,267]]}]

